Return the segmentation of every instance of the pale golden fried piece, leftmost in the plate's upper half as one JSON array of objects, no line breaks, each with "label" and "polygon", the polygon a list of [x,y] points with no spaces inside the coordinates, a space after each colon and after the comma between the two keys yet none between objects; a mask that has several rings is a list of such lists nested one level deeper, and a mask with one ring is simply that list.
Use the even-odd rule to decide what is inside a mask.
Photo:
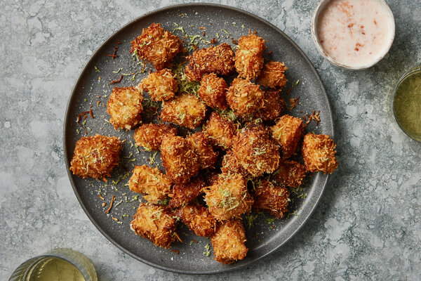
[{"label": "pale golden fried piece, leftmost in the plate's upper half", "polygon": [[142,91],[138,87],[114,87],[107,103],[107,112],[111,116],[109,123],[114,129],[133,129],[142,122],[142,101]]}]

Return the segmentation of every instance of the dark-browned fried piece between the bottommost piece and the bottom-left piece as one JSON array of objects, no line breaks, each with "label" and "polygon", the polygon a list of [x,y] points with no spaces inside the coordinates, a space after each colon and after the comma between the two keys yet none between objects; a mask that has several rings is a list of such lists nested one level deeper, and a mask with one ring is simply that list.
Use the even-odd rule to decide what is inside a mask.
[{"label": "dark-browned fried piece between the bottommost piece and the bottom-left piece", "polygon": [[215,233],[216,220],[208,209],[201,205],[188,204],[175,213],[197,236],[209,237]]}]

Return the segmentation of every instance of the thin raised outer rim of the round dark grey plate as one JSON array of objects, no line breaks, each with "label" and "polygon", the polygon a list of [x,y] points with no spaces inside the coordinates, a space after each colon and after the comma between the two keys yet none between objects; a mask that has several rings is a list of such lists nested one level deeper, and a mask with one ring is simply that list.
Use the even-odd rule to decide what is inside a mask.
[{"label": "thin raised outer rim of the round dark grey plate", "polygon": [[[236,266],[230,266],[227,268],[224,268],[222,270],[208,270],[208,271],[201,271],[201,272],[194,272],[194,271],[186,271],[186,270],[178,270],[178,269],[174,269],[174,268],[168,268],[166,266],[161,266],[158,263],[152,263],[150,261],[147,261],[145,259],[140,258],[140,256],[137,256],[133,253],[131,253],[131,251],[128,251],[128,249],[122,247],[118,242],[116,242],[114,239],[112,239],[112,237],[109,237],[109,235],[107,235],[107,233],[105,233],[105,230],[103,230],[102,228],[100,228],[100,226],[98,225],[98,223],[94,220],[94,218],[91,216],[91,214],[89,213],[88,209],[86,209],[86,206],[84,204],[82,204],[82,200],[81,200],[81,196],[79,195],[78,190],[76,190],[76,185],[73,181],[72,178],[72,172],[69,170],[70,168],[70,161],[69,159],[71,159],[71,157],[69,158],[69,155],[67,153],[67,138],[66,138],[66,132],[68,131],[68,124],[69,124],[69,119],[72,119],[72,117],[70,117],[69,115],[69,108],[70,105],[72,104],[74,98],[76,97],[76,86],[81,82],[81,80],[83,79],[83,73],[87,71],[88,69],[88,65],[90,65],[92,63],[92,61],[98,56],[98,53],[100,53],[100,50],[102,49],[102,47],[104,47],[105,45],[109,44],[109,41],[112,40],[112,38],[114,36],[116,36],[116,34],[118,34],[121,30],[125,29],[126,27],[128,27],[128,25],[133,25],[135,22],[140,21],[150,15],[154,15],[156,13],[162,13],[168,10],[172,10],[174,8],[185,8],[185,7],[195,7],[195,6],[211,6],[213,8],[222,8],[222,9],[227,9],[227,10],[231,10],[231,11],[235,11],[237,13],[242,13],[244,15],[247,15],[248,17],[251,17],[255,20],[258,20],[260,22],[262,22],[263,24],[271,27],[273,30],[275,30],[277,33],[281,34],[286,40],[289,41],[290,44],[292,44],[294,46],[294,48],[297,49],[297,51],[300,53],[300,55],[302,55],[302,58],[305,59],[305,61],[309,64],[310,69],[312,70],[312,72],[314,72],[317,81],[321,84],[322,86],[322,92],[323,95],[326,97],[327,100],[327,104],[326,106],[328,107],[329,110],[329,115],[328,117],[330,117],[330,120],[332,120],[331,122],[331,126],[330,129],[332,131],[330,137],[334,139],[335,136],[335,126],[334,126],[334,122],[333,122],[333,112],[332,112],[332,107],[330,106],[330,100],[329,100],[329,96],[326,92],[325,86],[323,84],[323,81],[321,80],[321,77],[319,75],[319,72],[317,72],[316,67],[314,67],[313,63],[311,60],[309,60],[309,58],[307,57],[307,55],[304,53],[304,51],[302,51],[302,49],[300,48],[300,46],[298,46],[298,44],[295,43],[295,41],[293,41],[293,39],[290,39],[290,37],[288,37],[288,35],[283,32],[282,30],[280,30],[278,27],[276,27],[275,25],[273,25],[271,22],[260,18],[258,15],[255,15],[253,13],[250,13],[248,11],[244,11],[240,8],[236,8],[233,6],[227,6],[227,5],[223,5],[223,4],[213,4],[213,3],[189,3],[189,4],[175,4],[175,5],[170,5],[170,6],[165,6],[162,8],[158,8],[155,9],[153,11],[149,11],[147,13],[144,13],[142,15],[140,15],[138,18],[135,18],[133,20],[131,20],[130,22],[127,22],[125,25],[119,27],[118,30],[116,30],[115,32],[113,32],[111,35],[109,35],[109,37],[102,42],[102,44],[100,44],[100,46],[98,46],[95,50],[95,52],[91,55],[91,57],[88,59],[88,61],[85,63],[85,65],[83,65],[83,68],[79,74],[78,79],[76,79],[76,82],[74,83],[74,86],[72,88],[72,93],[69,96],[69,100],[67,101],[67,106],[66,106],[66,111],[65,111],[65,119],[64,119],[64,124],[63,124],[63,151],[64,151],[64,156],[65,156],[65,164],[66,164],[66,169],[67,169],[67,176],[69,178],[69,181],[72,185],[72,189],[74,191],[74,194],[76,195],[76,199],[78,200],[79,204],[81,205],[83,211],[85,212],[86,216],[88,216],[89,220],[91,221],[91,223],[93,223],[93,225],[95,226],[95,228],[97,228],[100,233],[102,235],[104,235],[107,240],[109,240],[109,242],[112,242],[112,244],[114,244],[114,246],[116,246],[117,248],[119,248],[121,251],[123,251],[124,253],[128,254],[129,256],[131,256],[133,259],[136,259],[138,261],[141,261],[142,263],[147,264],[148,266],[152,266],[154,268],[159,268],[161,270],[166,270],[166,271],[170,271],[173,273],[181,273],[181,274],[188,274],[188,275],[209,275],[209,274],[215,274],[215,273],[228,273],[228,272],[232,272],[234,270],[239,270],[241,268],[245,268],[247,266],[250,266],[250,264],[255,263],[257,261],[260,261],[261,259],[274,254],[276,251],[278,251],[284,244],[286,244],[286,242],[288,242],[293,236],[295,236],[295,234],[298,233],[299,230],[301,230],[302,226],[305,225],[305,223],[307,223],[307,221],[309,220],[309,218],[312,216],[312,214],[314,213],[314,210],[316,209],[317,205],[319,204],[319,201],[321,199],[321,197],[323,196],[324,190],[326,188],[326,185],[328,183],[328,180],[330,178],[330,175],[327,174],[326,175],[326,179],[324,181],[324,183],[322,182],[323,186],[321,188],[321,192],[319,197],[314,198],[314,205],[312,206],[312,209],[309,210],[309,214],[307,215],[307,217],[301,221],[299,223],[298,228],[296,228],[294,231],[292,231],[290,233],[290,235],[288,235],[288,237],[286,238],[286,240],[284,240],[283,242],[281,242],[279,245],[277,245],[276,247],[274,247],[274,249],[268,251],[265,254],[262,254],[261,256],[256,257],[253,260],[250,261],[246,261],[243,262],[241,264],[237,263]],[[234,263],[235,264],[235,263]]]}]

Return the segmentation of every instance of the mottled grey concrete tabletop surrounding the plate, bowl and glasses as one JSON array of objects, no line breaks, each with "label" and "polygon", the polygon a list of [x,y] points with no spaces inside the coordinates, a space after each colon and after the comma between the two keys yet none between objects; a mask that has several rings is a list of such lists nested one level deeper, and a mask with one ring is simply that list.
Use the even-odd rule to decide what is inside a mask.
[{"label": "mottled grey concrete tabletop surrounding the plate, bowl and glasses", "polygon": [[100,280],[420,280],[421,143],[392,125],[387,94],[421,62],[421,1],[388,1],[389,55],[369,70],[329,65],[310,21],[317,1],[215,1],[286,32],[321,74],[335,116],[340,168],[302,230],[241,272],[167,273],[114,247],[73,194],[62,150],[67,99],[83,65],[112,32],[182,1],[3,1],[0,6],[0,279],[54,247],[86,254]]}]

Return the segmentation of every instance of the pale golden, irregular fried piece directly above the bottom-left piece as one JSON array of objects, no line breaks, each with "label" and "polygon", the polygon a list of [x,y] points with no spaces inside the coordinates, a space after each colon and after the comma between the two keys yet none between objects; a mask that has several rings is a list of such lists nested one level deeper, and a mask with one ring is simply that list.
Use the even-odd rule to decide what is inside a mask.
[{"label": "pale golden, irregular fried piece directly above the bottom-left piece", "polygon": [[128,188],[133,192],[143,194],[150,203],[165,200],[171,191],[171,180],[159,171],[147,165],[135,166],[133,175],[128,181]]}]

